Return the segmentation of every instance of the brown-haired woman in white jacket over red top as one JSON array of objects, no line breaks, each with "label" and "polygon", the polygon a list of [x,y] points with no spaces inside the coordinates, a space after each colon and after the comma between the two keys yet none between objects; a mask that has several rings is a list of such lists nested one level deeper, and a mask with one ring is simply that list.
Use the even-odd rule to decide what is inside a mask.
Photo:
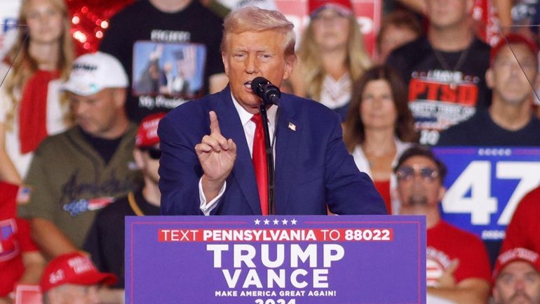
[{"label": "brown-haired woman in white jacket over red top", "polygon": [[372,178],[386,209],[396,214],[399,204],[392,194],[397,185],[392,169],[418,135],[407,105],[407,88],[392,67],[372,67],[353,85],[343,138],[358,169]]}]

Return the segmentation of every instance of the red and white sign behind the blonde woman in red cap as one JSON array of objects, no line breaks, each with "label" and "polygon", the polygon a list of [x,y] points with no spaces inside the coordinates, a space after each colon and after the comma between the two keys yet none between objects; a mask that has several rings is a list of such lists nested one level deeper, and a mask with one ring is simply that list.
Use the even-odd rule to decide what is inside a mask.
[{"label": "red and white sign behind the blonde woman in red cap", "polygon": [[[279,11],[295,25],[297,42],[302,30],[309,23],[306,0],[275,0]],[[356,19],[364,34],[365,48],[370,55],[375,49],[375,38],[379,32],[382,15],[382,1],[380,0],[352,0]]]}]

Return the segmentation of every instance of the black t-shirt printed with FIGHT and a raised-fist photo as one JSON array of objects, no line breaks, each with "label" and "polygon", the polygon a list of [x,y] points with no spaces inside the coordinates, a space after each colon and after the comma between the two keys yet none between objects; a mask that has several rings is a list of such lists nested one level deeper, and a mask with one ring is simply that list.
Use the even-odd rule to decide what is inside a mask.
[{"label": "black t-shirt printed with FIGHT and a raised-fist photo", "polygon": [[208,78],[224,72],[222,19],[191,1],[164,13],[135,1],[110,20],[100,51],[120,60],[130,79],[128,117],[139,122],[208,93]]}]

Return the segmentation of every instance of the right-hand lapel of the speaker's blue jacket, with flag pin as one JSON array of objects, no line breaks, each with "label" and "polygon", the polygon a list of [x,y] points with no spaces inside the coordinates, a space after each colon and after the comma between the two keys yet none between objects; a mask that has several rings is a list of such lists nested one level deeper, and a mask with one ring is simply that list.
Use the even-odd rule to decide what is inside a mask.
[{"label": "right-hand lapel of the speaker's blue jacket, with flag pin", "polygon": [[[285,98],[283,98],[285,99]],[[298,147],[302,140],[302,124],[291,107],[290,100],[281,103],[276,126],[276,213],[285,213],[292,182],[297,176]]]}]

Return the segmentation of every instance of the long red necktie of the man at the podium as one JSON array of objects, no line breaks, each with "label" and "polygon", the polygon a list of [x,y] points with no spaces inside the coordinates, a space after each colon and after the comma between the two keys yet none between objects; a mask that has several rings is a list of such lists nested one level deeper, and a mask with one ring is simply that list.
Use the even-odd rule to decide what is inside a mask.
[{"label": "long red necktie of the man at the podium", "polygon": [[253,136],[253,167],[255,168],[255,178],[259,189],[259,199],[261,201],[262,215],[268,215],[268,167],[266,166],[266,153],[264,149],[264,132],[262,130],[261,114],[257,113],[251,117],[255,122],[255,136]]}]

